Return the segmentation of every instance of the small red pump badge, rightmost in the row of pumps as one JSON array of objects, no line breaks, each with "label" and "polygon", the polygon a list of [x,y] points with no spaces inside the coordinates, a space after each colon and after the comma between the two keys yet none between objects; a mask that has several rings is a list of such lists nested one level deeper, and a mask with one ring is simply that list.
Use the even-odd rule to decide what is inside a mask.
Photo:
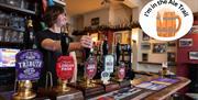
[{"label": "small red pump badge, rightmost in the row of pumps", "polygon": [[125,77],[125,66],[124,63],[122,63],[121,66],[118,68],[118,78],[120,80],[123,80],[124,77]]}]

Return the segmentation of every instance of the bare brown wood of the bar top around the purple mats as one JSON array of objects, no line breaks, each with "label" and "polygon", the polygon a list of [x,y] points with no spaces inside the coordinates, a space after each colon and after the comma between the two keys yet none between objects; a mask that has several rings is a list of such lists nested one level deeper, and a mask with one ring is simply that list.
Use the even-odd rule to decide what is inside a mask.
[{"label": "bare brown wood of the bar top around the purple mats", "polygon": [[[150,81],[150,80],[156,79],[156,78],[158,78],[158,76],[156,76],[156,75],[154,75],[154,76],[142,76],[138,79],[133,79],[131,82],[132,82],[132,85],[135,86],[135,85],[143,82],[143,81]],[[178,82],[170,85],[170,86],[168,86],[162,90],[155,91],[152,95],[148,95],[143,100],[164,100],[190,82],[190,80],[187,78],[184,78],[184,77],[177,77],[177,78],[179,79]],[[139,97],[136,97],[133,100],[140,100],[140,99],[139,99]]]}]

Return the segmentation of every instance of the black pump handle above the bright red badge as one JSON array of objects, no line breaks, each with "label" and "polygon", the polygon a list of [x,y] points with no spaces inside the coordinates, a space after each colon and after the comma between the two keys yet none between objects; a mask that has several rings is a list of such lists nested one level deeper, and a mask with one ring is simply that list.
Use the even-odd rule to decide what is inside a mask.
[{"label": "black pump handle above the bright red badge", "polygon": [[62,54],[64,56],[68,56],[68,47],[69,47],[69,38],[66,35],[66,33],[62,33],[62,38],[61,38],[61,46],[62,46]]}]

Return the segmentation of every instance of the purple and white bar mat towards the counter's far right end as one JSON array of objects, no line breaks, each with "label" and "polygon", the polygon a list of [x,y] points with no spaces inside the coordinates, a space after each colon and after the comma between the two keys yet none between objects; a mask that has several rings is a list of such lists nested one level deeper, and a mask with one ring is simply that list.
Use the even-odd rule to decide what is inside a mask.
[{"label": "purple and white bar mat towards the counter's far right end", "polygon": [[135,87],[150,89],[150,90],[161,90],[166,88],[169,85],[178,82],[178,79],[170,79],[170,78],[157,78],[151,81],[144,81]]}]

